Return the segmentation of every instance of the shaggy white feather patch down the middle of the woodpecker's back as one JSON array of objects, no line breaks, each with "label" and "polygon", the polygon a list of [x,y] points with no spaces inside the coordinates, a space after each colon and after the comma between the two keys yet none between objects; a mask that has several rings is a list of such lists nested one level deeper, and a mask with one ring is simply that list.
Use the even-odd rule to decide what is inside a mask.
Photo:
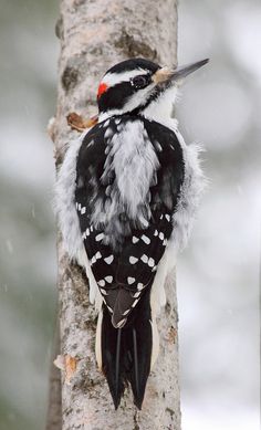
[{"label": "shaggy white feather patch down the middle of the woodpecker's back", "polygon": [[[106,144],[108,154],[101,180],[106,183],[113,172],[115,180],[109,186],[111,198],[105,204],[103,204],[103,199],[96,201],[92,223],[95,227],[101,223],[109,224],[109,231],[113,235],[117,235],[121,233],[117,231],[119,213],[127,212],[137,226],[143,227],[148,222],[150,218],[149,187],[159,167],[159,161],[144,124],[139,119],[124,124],[119,133],[107,138]],[[146,211],[140,210],[144,203],[147,203]],[[105,232],[109,234],[106,227]]]}]

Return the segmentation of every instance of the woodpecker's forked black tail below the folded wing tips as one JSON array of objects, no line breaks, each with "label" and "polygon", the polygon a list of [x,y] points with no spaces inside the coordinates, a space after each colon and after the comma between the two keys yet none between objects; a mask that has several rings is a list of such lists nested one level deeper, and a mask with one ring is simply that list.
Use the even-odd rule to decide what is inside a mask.
[{"label": "woodpecker's forked black tail below the folded wing tips", "polygon": [[127,382],[133,390],[134,403],[142,409],[153,353],[149,291],[145,292],[123,328],[115,328],[111,318],[103,305],[96,335],[98,365],[107,379],[115,409]]}]

